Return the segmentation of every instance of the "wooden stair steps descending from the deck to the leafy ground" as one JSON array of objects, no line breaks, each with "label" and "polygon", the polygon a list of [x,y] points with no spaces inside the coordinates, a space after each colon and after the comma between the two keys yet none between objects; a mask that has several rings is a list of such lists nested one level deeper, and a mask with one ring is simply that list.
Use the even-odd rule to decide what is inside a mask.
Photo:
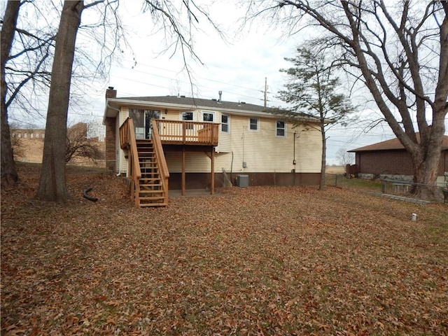
[{"label": "wooden stair steps descending from the deck to the leafy ground", "polygon": [[138,183],[139,190],[135,190],[135,197],[139,197],[139,206],[165,207],[167,205],[167,190],[164,190],[153,141],[145,139],[136,142],[141,172]]}]

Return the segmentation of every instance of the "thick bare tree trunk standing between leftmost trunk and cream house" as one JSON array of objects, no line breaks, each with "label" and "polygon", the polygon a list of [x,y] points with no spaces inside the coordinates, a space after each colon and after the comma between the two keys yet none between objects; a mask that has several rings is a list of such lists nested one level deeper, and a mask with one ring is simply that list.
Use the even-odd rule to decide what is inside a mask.
[{"label": "thick bare tree trunk standing between leftmost trunk and cream house", "polygon": [[65,172],[66,123],[76,34],[83,7],[83,1],[64,1],[56,36],[41,179],[36,195],[44,201],[66,202],[69,197]]}]

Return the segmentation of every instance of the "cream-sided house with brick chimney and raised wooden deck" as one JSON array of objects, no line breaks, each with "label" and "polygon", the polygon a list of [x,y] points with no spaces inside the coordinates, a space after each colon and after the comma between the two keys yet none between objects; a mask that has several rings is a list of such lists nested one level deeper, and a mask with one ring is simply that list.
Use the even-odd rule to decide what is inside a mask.
[{"label": "cream-sided house with brick chimney and raised wooden deck", "polygon": [[[170,190],[182,193],[199,188],[214,193],[215,186],[228,183],[318,184],[320,132],[314,127],[293,128],[267,110],[244,102],[224,102],[221,93],[219,99],[118,98],[109,87],[103,120],[107,167],[132,180],[132,198],[140,206],[166,204],[168,181]],[[149,181],[158,185],[150,187]],[[137,184],[145,187],[137,188]]]}]

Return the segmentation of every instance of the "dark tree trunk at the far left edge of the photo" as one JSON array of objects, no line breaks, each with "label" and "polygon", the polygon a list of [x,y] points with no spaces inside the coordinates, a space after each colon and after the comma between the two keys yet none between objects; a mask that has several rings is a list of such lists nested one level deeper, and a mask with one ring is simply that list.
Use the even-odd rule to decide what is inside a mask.
[{"label": "dark tree trunk at the far left edge of the photo", "polygon": [[8,1],[3,25],[1,27],[1,186],[14,186],[19,181],[15,170],[13,148],[8,124],[8,109],[6,107],[6,76],[5,65],[13,45],[15,27],[19,15],[20,1]]}]

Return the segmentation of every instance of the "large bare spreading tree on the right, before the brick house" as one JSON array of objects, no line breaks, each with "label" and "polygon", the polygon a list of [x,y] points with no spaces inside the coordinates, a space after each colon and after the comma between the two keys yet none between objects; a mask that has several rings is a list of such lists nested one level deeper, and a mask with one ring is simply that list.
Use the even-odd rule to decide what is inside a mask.
[{"label": "large bare spreading tree on the right, before the brick house", "polygon": [[259,0],[248,8],[248,18],[265,15],[291,33],[323,29],[325,43],[340,51],[409,152],[422,198],[437,196],[448,113],[447,14],[447,1]]}]

